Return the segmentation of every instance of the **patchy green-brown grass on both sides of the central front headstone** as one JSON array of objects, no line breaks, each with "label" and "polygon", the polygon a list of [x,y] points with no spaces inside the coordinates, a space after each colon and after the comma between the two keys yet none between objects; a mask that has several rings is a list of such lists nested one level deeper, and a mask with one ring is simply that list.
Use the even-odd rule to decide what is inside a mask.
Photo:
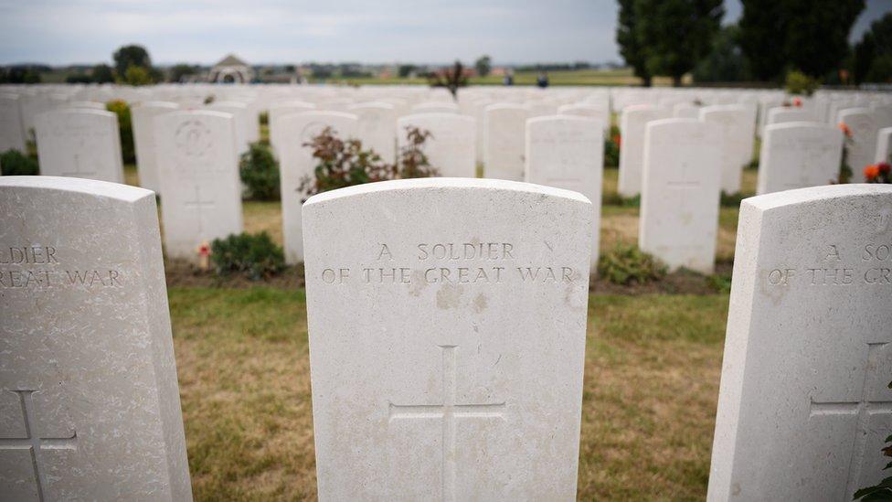
[{"label": "patchy green-brown grass on both sides of the central front headstone", "polygon": [[[171,288],[197,500],[315,497],[303,290]],[[727,296],[589,299],[579,497],[706,496]]]}]

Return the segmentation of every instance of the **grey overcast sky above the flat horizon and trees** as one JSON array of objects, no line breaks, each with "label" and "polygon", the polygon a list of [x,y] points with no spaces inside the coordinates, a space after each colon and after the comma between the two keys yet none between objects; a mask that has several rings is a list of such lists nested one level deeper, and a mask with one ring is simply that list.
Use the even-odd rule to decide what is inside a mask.
[{"label": "grey overcast sky above the flat horizon and trees", "polygon": [[[892,11],[867,0],[853,38]],[[726,22],[740,16],[726,0]],[[0,0],[0,64],[620,61],[615,0]]]}]

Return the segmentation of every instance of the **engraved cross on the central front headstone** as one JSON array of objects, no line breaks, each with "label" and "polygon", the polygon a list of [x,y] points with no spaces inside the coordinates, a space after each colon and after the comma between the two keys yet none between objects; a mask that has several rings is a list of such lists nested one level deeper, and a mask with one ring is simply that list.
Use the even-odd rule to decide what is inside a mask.
[{"label": "engraved cross on the central front headstone", "polygon": [[455,500],[455,419],[478,418],[504,420],[504,401],[492,404],[456,404],[455,402],[455,349],[458,346],[441,345],[442,348],[442,404],[394,404],[389,403],[390,419],[441,419],[441,481],[442,499]]}]

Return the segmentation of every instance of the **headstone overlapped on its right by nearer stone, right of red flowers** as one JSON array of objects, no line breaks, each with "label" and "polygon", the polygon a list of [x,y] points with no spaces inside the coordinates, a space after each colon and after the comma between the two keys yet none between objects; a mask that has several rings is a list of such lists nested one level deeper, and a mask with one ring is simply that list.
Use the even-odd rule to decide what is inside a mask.
[{"label": "headstone overlapped on its right by nearer stone, right of red flowers", "polygon": [[622,197],[634,197],[641,193],[644,126],[651,121],[669,118],[671,115],[672,112],[665,108],[646,104],[622,109],[620,174],[617,182],[617,191]]}]

